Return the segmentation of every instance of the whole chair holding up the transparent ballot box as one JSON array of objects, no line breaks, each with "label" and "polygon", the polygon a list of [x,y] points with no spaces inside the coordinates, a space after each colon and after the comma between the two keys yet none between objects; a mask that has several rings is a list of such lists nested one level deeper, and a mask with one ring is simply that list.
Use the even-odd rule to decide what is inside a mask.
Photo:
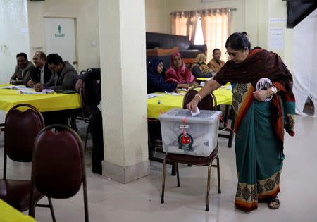
[{"label": "whole chair holding up the transparent ballot box", "polygon": [[[189,90],[183,100],[183,108],[185,109],[187,103],[192,101],[194,95],[198,92],[192,88]],[[217,101],[215,95],[211,92],[208,96],[199,102],[199,109],[203,110],[216,110]],[[213,160],[217,160],[217,164],[213,165]],[[163,181],[162,181],[162,195],[161,195],[161,204],[164,203],[164,190],[165,190],[165,177],[166,177],[166,161],[175,162],[176,164],[176,175],[178,178],[178,187],[180,187],[180,174],[178,172],[178,163],[189,164],[189,165],[199,165],[199,166],[208,166],[208,177],[207,177],[207,195],[206,195],[206,211],[209,211],[209,191],[210,191],[210,180],[211,180],[211,167],[217,168],[218,174],[218,193],[221,193],[220,190],[220,168],[219,168],[219,157],[218,157],[218,142],[216,148],[213,149],[213,152],[207,157],[203,156],[190,156],[183,154],[171,154],[166,153],[163,161]]]}]

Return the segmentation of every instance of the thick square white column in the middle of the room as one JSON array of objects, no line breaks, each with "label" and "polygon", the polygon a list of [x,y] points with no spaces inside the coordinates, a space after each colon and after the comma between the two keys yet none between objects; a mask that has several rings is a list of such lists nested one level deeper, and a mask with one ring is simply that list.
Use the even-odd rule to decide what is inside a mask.
[{"label": "thick square white column in the middle of the room", "polygon": [[103,174],[149,175],[144,0],[99,0]]}]

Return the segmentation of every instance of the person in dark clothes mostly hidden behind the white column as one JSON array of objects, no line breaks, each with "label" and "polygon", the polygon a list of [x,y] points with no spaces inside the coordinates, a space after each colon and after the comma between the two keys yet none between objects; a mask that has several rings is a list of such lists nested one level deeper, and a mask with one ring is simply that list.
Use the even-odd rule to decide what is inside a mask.
[{"label": "person in dark clothes mostly hidden behind the white column", "polygon": [[[100,70],[93,69],[87,71],[76,83],[76,91],[82,88],[82,83],[89,80],[100,80]],[[102,131],[101,116],[101,84],[98,85],[98,95],[91,104],[87,105],[87,109],[92,113],[89,118],[89,128],[92,134],[92,172],[102,174],[101,161],[104,159],[104,140]]]}]

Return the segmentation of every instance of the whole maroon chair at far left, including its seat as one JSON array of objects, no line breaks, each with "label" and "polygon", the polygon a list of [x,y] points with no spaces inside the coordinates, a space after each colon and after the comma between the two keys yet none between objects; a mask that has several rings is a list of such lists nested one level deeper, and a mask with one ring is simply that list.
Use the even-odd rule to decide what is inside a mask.
[{"label": "whole maroon chair at far left, including its seat", "polygon": [[[28,107],[30,109],[20,111],[18,110],[20,107]],[[29,209],[31,191],[33,192],[32,202],[35,204],[43,195],[37,191],[36,187],[33,187],[32,190],[30,189],[31,180],[7,179],[7,156],[13,161],[31,162],[35,137],[44,126],[42,114],[34,106],[29,104],[13,106],[6,114],[6,132],[4,133],[4,178],[0,180],[0,198],[19,211]],[[49,205],[37,204],[37,206],[49,207],[51,212],[53,210],[50,198]]]}]

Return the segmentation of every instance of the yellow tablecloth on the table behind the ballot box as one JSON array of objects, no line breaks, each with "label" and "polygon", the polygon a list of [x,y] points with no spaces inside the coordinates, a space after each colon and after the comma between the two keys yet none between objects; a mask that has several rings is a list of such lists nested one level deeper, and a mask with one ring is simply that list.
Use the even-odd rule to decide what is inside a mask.
[{"label": "yellow tablecloth on the table behind the ballot box", "polygon": [[[158,93],[163,94],[163,93]],[[185,93],[184,93],[185,94]],[[232,92],[225,88],[219,88],[213,91],[216,96],[217,104],[232,105]],[[161,111],[164,113],[172,108],[182,108],[182,99],[184,95],[172,96],[164,94],[161,97],[147,99],[147,118],[158,118]],[[160,101],[160,104],[159,104]]]}]

